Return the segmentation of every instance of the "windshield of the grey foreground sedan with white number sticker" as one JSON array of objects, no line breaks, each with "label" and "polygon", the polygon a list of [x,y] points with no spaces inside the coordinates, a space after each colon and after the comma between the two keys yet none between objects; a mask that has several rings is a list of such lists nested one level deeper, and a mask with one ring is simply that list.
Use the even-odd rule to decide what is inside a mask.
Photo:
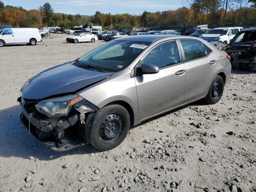
[{"label": "windshield of the grey foreground sedan with white number sticker", "polygon": [[82,56],[80,66],[117,72],[126,68],[150,42],[114,40]]}]

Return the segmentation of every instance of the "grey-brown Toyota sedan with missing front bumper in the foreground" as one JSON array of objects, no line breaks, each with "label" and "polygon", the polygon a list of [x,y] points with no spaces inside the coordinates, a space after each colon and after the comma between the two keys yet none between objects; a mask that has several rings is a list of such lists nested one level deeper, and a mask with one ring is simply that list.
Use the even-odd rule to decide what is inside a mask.
[{"label": "grey-brown Toyota sedan with missing front bumper in the foreground", "polygon": [[230,56],[200,38],[118,38],[30,78],[20,119],[52,150],[110,150],[148,118],[203,98],[217,103],[230,71]]}]

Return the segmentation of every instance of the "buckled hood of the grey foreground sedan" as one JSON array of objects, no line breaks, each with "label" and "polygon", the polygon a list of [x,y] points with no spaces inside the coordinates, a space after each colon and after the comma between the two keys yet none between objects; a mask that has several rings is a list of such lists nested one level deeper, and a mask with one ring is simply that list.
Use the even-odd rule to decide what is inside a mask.
[{"label": "buckled hood of the grey foreground sedan", "polygon": [[68,62],[30,78],[20,91],[24,99],[41,100],[54,95],[74,93],[112,74],[111,72],[87,70]]}]

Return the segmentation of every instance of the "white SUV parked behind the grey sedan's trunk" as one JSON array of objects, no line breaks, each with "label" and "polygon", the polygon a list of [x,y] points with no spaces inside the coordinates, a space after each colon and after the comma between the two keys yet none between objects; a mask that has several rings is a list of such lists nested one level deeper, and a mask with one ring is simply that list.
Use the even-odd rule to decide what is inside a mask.
[{"label": "white SUV parked behind the grey sedan's trunk", "polygon": [[209,33],[203,34],[200,38],[219,48],[219,43],[223,45],[229,44],[230,40],[241,30],[243,30],[242,27],[220,27],[210,30]]}]

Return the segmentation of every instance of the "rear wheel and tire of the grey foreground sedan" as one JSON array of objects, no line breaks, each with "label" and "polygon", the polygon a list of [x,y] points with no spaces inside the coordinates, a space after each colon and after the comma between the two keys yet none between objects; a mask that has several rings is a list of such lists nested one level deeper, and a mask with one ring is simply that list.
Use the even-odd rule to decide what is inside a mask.
[{"label": "rear wheel and tire of the grey foreground sedan", "polygon": [[224,90],[223,78],[217,75],[212,81],[208,94],[206,98],[204,98],[204,100],[209,104],[216,104],[222,97],[223,90]]}]

